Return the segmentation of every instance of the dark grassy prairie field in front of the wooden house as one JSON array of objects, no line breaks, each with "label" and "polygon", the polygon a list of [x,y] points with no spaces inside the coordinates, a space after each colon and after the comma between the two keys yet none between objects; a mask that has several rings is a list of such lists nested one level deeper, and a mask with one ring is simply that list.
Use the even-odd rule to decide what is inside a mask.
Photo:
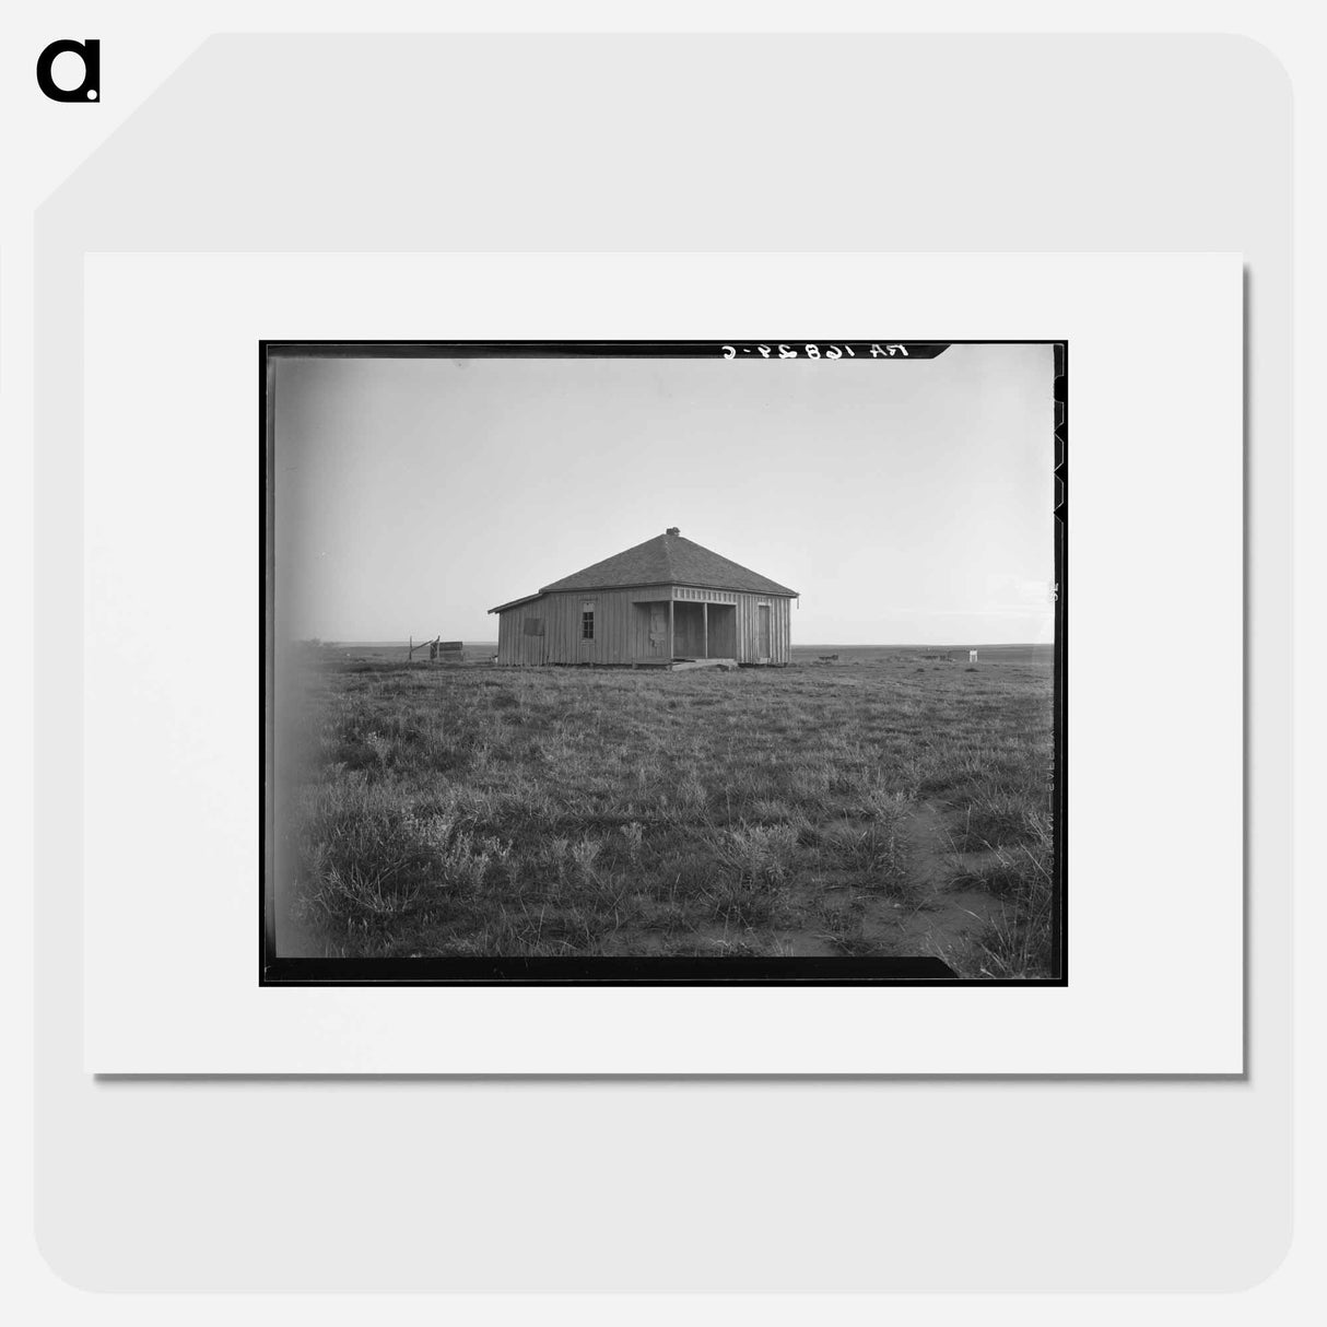
[{"label": "dark grassy prairie field in front of the wooden house", "polygon": [[975,667],[966,648],[805,648],[734,673],[403,653],[309,649],[281,707],[293,953],[1054,975],[1043,648]]}]

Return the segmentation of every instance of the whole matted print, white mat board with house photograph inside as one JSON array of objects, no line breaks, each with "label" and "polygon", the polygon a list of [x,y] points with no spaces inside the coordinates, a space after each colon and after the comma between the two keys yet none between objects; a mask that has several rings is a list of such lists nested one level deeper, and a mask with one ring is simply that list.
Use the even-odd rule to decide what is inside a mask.
[{"label": "whole matted print, white mat board with house photograph inside", "polygon": [[89,1067],[1238,1068],[1237,255],[85,280]]}]

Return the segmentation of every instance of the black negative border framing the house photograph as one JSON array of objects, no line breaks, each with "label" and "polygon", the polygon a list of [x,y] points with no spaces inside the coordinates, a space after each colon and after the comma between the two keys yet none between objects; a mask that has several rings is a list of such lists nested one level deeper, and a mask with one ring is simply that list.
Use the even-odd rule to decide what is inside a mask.
[{"label": "black negative border framing the house photograph", "polygon": [[[928,958],[413,958],[336,959],[280,958],[275,953],[275,888],[271,829],[275,825],[275,575],[271,527],[272,425],[275,360],[289,356],[325,358],[727,358],[734,346],[853,346],[859,353],[836,364],[908,364],[942,354],[950,345],[1051,345],[1054,353],[1054,555],[1055,645],[1051,691],[1054,762],[1052,860],[1056,889],[1052,930],[1058,949],[1056,977],[957,977],[940,959]],[[872,345],[902,345],[908,356],[869,356]],[[338,341],[260,340],[259,369],[259,986],[1015,986],[1068,985],[1068,855],[1067,855],[1067,701],[1068,701],[1068,340],[994,338],[844,341],[832,337],[768,341]],[[917,353],[913,353],[917,352]],[[799,356],[804,357],[804,356]]]}]

